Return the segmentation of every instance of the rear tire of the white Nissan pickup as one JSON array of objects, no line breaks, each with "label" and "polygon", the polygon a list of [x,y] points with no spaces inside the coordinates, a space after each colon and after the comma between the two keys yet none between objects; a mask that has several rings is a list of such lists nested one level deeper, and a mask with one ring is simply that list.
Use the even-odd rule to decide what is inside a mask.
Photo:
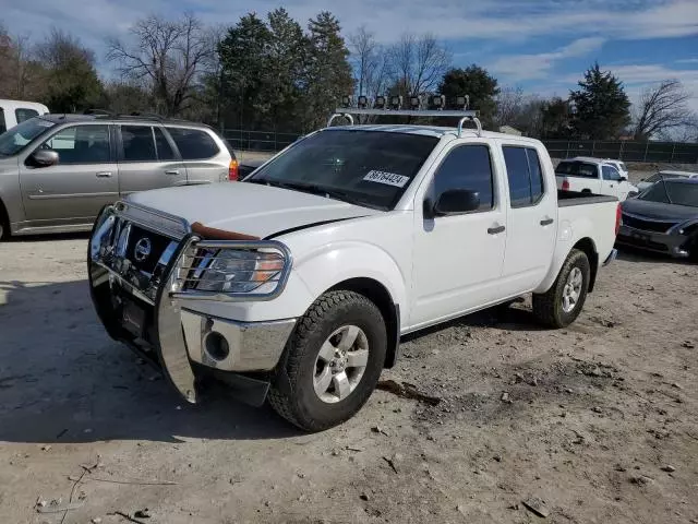
[{"label": "rear tire of the white Nissan pickup", "polygon": [[[575,270],[578,270],[575,271]],[[570,309],[565,308],[564,297],[567,295],[568,285],[570,285],[570,274],[581,274],[581,284],[578,289],[578,296]],[[583,251],[573,249],[567,255],[567,260],[559,270],[559,274],[553,286],[545,293],[533,294],[533,314],[544,325],[550,327],[566,327],[571,324],[585,306],[587,294],[589,291],[590,275],[589,259]],[[575,286],[576,289],[576,286]],[[569,295],[567,295],[569,297]],[[569,301],[566,302],[571,306]]]}]

